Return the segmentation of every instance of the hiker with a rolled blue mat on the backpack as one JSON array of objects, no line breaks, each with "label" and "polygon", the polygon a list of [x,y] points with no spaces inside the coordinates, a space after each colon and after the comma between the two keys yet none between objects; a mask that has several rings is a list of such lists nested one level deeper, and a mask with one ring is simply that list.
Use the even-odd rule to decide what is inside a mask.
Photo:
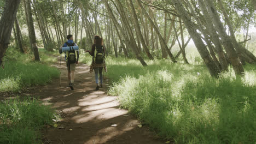
[{"label": "hiker with a rolled blue mat on the backpack", "polygon": [[[67,35],[67,42],[63,44],[62,47],[67,46],[77,46],[77,44],[73,41],[73,35],[69,34]],[[60,50],[60,53],[62,53],[62,50]],[[67,51],[65,52],[65,60],[66,60],[66,66],[68,70],[68,87],[71,88],[71,90],[74,90],[74,77],[75,77],[75,66],[78,64],[79,60],[79,51]]]}]

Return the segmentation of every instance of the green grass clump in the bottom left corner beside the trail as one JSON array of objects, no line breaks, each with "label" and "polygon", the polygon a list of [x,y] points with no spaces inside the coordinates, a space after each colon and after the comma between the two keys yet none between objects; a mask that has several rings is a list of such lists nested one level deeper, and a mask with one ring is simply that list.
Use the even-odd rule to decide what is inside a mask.
[{"label": "green grass clump in the bottom left corner beside the trail", "polygon": [[0,143],[42,143],[40,128],[55,118],[50,106],[37,100],[5,100],[0,102]]}]

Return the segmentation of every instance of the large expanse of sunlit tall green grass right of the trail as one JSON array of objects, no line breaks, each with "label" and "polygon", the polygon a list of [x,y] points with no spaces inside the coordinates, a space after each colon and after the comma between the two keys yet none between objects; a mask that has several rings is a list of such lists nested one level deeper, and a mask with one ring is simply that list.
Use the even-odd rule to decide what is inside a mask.
[{"label": "large expanse of sunlit tall green grass right of the trail", "polygon": [[[195,61],[196,62],[196,61]],[[121,107],[176,143],[255,143],[256,66],[214,79],[205,66],[108,58],[107,76]]]}]

